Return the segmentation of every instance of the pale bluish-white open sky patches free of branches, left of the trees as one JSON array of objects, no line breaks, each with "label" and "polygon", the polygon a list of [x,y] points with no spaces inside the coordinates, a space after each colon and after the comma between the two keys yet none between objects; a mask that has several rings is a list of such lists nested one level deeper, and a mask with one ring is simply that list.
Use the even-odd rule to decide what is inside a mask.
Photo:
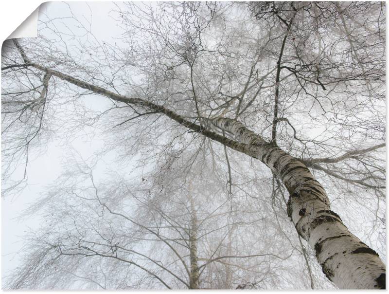
[{"label": "pale bluish-white open sky patches free of branches, left of the trees", "polygon": [[[115,30],[112,18],[109,18],[107,12],[114,8],[111,2],[72,2],[72,11],[77,16],[85,15],[88,20],[92,20],[92,33],[99,39],[109,40],[111,36],[109,32]],[[93,10],[90,15],[90,6]],[[96,9],[98,6],[98,9]],[[69,8],[63,2],[51,2],[42,5],[39,13],[39,19],[44,18],[43,14],[47,14],[50,18],[68,16]],[[111,27],[110,27],[111,26]],[[117,31],[117,30],[116,30]],[[101,99],[90,99],[91,97],[84,96],[82,99],[87,106],[94,109],[99,108]],[[103,103],[104,105],[104,103]],[[88,130],[81,130],[80,133],[85,133],[77,137],[68,145],[64,145],[63,141],[50,141],[47,146],[47,151],[40,156],[35,156],[29,160],[28,186],[17,197],[8,197],[1,201],[1,255],[2,255],[2,275],[9,270],[14,269],[18,264],[18,258],[15,253],[20,250],[23,243],[21,238],[26,232],[39,227],[39,217],[28,218],[20,221],[17,219],[18,214],[26,209],[29,203],[34,202],[39,196],[44,193],[47,185],[54,183],[55,179],[61,174],[62,164],[66,164],[64,156],[71,148],[77,150],[83,158],[88,158],[94,151],[103,146],[101,140],[96,140],[88,136]]]}]

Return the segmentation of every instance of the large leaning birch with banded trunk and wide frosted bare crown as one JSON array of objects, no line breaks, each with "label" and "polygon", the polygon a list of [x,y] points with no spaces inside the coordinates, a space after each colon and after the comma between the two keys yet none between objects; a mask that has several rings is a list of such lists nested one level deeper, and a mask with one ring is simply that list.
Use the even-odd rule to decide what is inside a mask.
[{"label": "large leaning birch with banded trunk and wide frosted bare crown", "polygon": [[[227,195],[285,209],[337,287],[384,289],[385,3],[115,5],[115,42],[70,12],[66,28],[47,16],[38,38],[3,45],[3,169],[27,166],[50,132],[85,125],[104,129],[120,160],[140,154],[161,174],[166,152],[202,149]],[[255,168],[273,193],[256,194]],[[332,210],[342,204],[367,211],[370,233],[348,228],[348,210]]]}]

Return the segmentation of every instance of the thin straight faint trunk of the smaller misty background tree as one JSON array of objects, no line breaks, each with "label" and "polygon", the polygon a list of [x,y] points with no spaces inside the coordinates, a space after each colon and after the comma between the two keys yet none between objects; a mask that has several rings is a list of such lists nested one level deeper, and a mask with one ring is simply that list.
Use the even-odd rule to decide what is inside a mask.
[{"label": "thin straight faint trunk of the smaller misty background tree", "polygon": [[197,214],[193,198],[189,196],[191,204],[191,228],[189,237],[190,259],[191,259],[191,274],[189,276],[189,289],[198,289],[198,264],[197,264]]}]

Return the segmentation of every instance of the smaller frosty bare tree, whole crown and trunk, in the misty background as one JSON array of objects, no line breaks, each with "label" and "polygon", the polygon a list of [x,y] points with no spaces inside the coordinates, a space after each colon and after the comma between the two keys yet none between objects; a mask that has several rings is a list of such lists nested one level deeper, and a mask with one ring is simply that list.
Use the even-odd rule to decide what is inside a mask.
[{"label": "smaller frosty bare tree, whole crown and trunk, in the misty background", "polygon": [[[191,182],[201,175],[191,176],[185,185],[177,179],[157,183],[160,178],[150,174],[136,190],[124,179],[111,187],[98,183],[83,161],[71,165],[48,196],[25,212],[26,218],[43,212],[44,233],[41,228],[30,236],[23,250],[33,252],[32,266],[20,266],[7,287],[72,289],[83,281],[97,289],[229,289],[251,283],[252,277],[257,287],[282,278],[282,270],[271,264],[291,258],[294,249],[268,250],[260,239],[241,244],[237,238],[268,219],[244,205],[231,208],[213,188],[199,194]],[[263,245],[256,249],[253,243]],[[215,263],[218,272],[230,270],[223,284],[208,278]]]}]

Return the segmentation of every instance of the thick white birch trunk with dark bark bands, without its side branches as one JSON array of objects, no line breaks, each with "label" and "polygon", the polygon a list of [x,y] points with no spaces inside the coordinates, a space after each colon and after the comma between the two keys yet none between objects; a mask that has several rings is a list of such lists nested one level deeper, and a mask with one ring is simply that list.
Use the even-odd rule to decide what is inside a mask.
[{"label": "thick white birch trunk with dark bark bands, without its side branches", "polygon": [[354,236],[330,209],[328,196],[301,160],[265,142],[240,122],[205,119],[208,127],[232,134],[252,146],[289,192],[288,216],[300,236],[314,248],[324,274],[341,289],[385,289],[385,264],[378,254]]}]

